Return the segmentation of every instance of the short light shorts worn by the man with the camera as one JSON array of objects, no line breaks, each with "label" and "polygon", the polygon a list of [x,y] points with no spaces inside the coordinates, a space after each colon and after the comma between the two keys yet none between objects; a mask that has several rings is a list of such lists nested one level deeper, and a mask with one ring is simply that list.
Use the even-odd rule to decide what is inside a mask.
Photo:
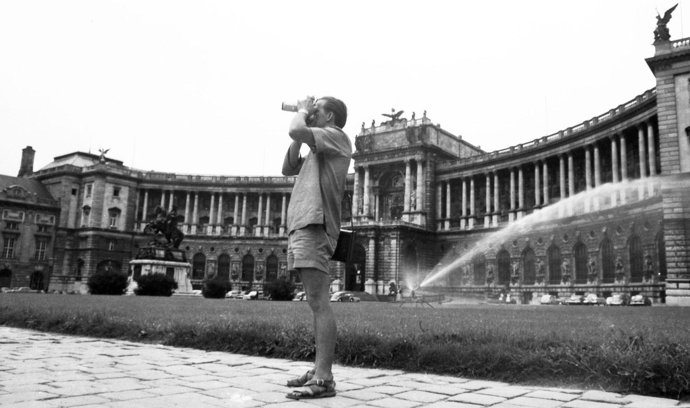
[{"label": "short light shorts worn by the man with the camera", "polygon": [[328,261],[337,241],[326,234],[323,224],[309,224],[288,236],[288,271],[300,268],[319,269],[328,274]]}]

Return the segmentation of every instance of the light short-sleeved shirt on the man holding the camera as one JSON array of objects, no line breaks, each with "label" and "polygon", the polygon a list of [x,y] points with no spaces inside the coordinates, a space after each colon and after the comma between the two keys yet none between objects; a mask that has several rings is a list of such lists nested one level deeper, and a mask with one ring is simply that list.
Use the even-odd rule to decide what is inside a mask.
[{"label": "light short-sleeved shirt on the man holding the camera", "polygon": [[[340,233],[340,207],[352,143],[337,126],[311,128],[315,145],[302,159],[288,207],[288,234],[309,224],[326,225],[326,234]],[[319,183],[320,179],[320,183]]]}]

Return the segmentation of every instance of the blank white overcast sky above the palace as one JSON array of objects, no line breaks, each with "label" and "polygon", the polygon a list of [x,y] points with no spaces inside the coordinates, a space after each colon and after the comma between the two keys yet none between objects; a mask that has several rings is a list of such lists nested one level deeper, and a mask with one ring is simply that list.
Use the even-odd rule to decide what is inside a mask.
[{"label": "blank white overcast sky above the palace", "polygon": [[[689,2],[671,39],[690,37]],[[34,170],[108,148],[141,170],[279,175],[280,103],[307,94],[348,105],[353,141],[395,108],[502,149],[653,88],[675,3],[2,1],[0,174],[31,145]]]}]

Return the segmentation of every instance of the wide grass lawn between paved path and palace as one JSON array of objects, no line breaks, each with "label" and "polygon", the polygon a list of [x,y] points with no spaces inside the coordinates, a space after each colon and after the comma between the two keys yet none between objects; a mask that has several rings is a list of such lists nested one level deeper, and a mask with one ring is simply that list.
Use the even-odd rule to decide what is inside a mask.
[{"label": "wide grass lawn between paved path and palace", "polygon": [[[682,398],[690,308],[333,303],[345,365]],[[0,294],[0,324],[313,359],[306,302]]]}]

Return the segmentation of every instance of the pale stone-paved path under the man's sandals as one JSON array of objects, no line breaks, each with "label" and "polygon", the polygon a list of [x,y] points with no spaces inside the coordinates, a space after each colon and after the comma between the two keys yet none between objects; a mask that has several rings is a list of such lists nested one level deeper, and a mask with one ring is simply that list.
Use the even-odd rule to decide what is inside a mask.
[{"label": "pale stone-paved path under the man's sandals", "polygon": [[286,399],[286,380],[307,369],[275,358],[0,327],[4,408],[690,408],[665,398],[342,366],[334,367],[337,396]]}]

